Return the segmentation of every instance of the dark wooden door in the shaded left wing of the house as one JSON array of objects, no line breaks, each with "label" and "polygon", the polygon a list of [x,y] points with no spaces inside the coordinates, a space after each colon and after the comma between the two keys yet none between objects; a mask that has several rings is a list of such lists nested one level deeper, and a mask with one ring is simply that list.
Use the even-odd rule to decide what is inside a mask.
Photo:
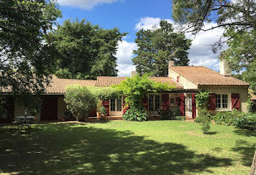
[{"label": "dark wooden door in the shaded left wing of the house", "polygon": [[41,120],[57,120],[57,97],[43,98]]}]

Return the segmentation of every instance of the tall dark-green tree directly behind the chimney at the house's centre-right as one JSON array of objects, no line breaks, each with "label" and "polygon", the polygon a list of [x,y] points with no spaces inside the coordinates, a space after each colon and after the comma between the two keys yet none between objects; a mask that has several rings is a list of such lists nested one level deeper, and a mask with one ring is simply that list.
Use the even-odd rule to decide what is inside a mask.
[{"label": "tall dark-green tree directly behind the chimney at the house's centre-right", "polygon": [[137,32],[139,49],[133,51],[133,64],[139,74],[151,73],[153,76],[168,76],[168,61],[175,61],[176,65],[188,65],[187,50],[191,40],[184,34],[174,32],[172,24],[166,20],[160,22],[160,28],[155,30],[140,30]]}]

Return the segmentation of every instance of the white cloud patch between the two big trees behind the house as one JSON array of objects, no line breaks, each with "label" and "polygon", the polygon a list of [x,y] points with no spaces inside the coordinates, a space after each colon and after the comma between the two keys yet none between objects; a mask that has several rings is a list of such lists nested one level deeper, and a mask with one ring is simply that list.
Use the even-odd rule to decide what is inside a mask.
[{"label": "white cloud patch between the two big trees behind the house", "polygon": [[130,76],[131,71],[135,70],[135,66],[131,61],[133,50],[137,49],[136,43],[119,41],[118,49],[115,57],[117,57],[118,76]]}]

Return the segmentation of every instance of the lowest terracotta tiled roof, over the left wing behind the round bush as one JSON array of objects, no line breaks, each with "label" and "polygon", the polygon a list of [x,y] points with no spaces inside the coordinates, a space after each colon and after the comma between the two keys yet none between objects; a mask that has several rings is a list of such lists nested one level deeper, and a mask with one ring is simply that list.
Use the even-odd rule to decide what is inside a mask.
[{"label": "lowest terracotta tiled roof, over the left wing behind the round bush", "polygon": [[53,75],[51,84],[46,88],[46,93],[65,93],[65,88],[73,84],[79,84],[80,86],[95,86],[96,80],[62,79]]}]

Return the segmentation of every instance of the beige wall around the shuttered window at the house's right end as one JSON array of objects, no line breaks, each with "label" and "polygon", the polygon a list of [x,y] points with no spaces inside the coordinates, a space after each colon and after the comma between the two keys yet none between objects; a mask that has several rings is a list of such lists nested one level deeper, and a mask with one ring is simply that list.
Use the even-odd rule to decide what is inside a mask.
[{"label": "beige wall around the shuttered window at the house's right end", "polygon": [[[205,89],[211,93],[228,94],[228,111],[231,111],[231,94],[238,93],[240,96],[241,111],[247,112],[248,88],[247,86],[199,86],[199,89]],[[216,111],[226,111],[216,109]]]}]

